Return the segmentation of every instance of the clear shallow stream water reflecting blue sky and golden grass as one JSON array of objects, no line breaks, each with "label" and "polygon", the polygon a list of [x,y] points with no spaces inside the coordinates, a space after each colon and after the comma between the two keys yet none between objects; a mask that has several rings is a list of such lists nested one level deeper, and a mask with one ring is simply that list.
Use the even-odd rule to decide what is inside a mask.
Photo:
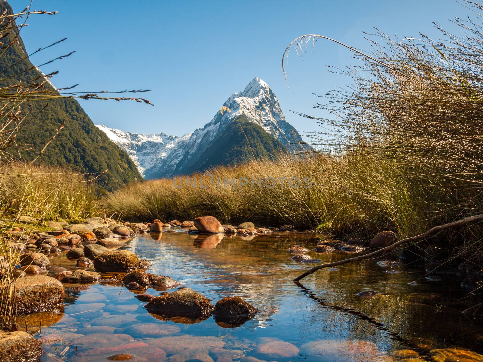
[{"label": "clear shallow stream water reflecting blue sky and golden grass", "polygon": [[[169,361],[239,361],[243,356],[265,361],[366,361],[395,349],[411,348],[424,356],[427,349],[450,346],[483,352],[482,325],[461,313],[476,300],[451,280],[429,281],[421,271],[381,267],[377,260],[369,260],[318,271],[294,283],[292,279],[313,265],[291,260],[287,249],[296,244],[313,249],[316,242],[312,234],[250,238],[176,232],[137,236],[122,248],[151,261],[149,272],[174,278],[213,305],[224,296],[241,296],[261,310],[237,328],[223,328],[213,318],[196,324],[156,319],[135,298],[139,292],[113,282],[64,284],[65,314],[32,317],[26,320],[27,327],[43,340],[42,361],[107,361],[115,353],[134,355],[129,361],[162,361],[163,353]],[[341,251],[309,255],[324,262],[349,256]],[[75,261],[63,254],[51,265],[75,269]],[[397,273],[387,273],[388,269]],[[408,284],[412,281],[417,285]],[[367,289],[378,294],[357,295]],[[260,345],[276,339],[262,337],[295,347],[274,344],[272,352]],[[351,352],[340,359],[307,356],[310,344],[304,344],[319,340],[336,346],[335,355]]]}]

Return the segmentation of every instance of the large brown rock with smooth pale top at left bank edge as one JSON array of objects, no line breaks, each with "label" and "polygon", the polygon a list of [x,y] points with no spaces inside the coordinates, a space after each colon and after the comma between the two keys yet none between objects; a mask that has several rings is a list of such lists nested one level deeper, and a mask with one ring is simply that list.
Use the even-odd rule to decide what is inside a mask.
[{"label": "large brown rock with smooth pale top at left bank edge", "polygon": [[18,315],[63,310],[64,286],[55,278],[45,275],[18,278],[15,294]]}]

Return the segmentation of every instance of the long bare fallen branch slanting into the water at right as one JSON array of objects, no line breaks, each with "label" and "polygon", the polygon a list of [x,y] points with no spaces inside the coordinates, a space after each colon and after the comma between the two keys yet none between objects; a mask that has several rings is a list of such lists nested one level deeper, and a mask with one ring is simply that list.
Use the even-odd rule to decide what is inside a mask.
[{"label": "long bare fallen branch slanting into the water at right", "polygon": [[364,260],[364,259],[370,259],[370,258],[373,258],[375,256],[379,256],[381,254],[384,254],[387,251],[391,251],[401,244],[405,244],[405,243],[409,243],[409,242],[415,242],[415,241],[421,241],[423,239],[426,239],[426,237],[429,237],[429,236],[431,236],[432,234],[434,234],[438,231],[450,229],[450,228],[455,227],[455,226],[466,225],[467,223],[471,223],[471,222],[482,220],[482,219],[483,219],[483,214],[479,214],[479,215],[475,215],[475,216],[469,216],[467,218],[464,218],[464,219],[461,219],[461,220],[458,220],[458,221],[454,221],[453,223],[438,225],[438,226],[435,226],[435,227],[429,229],[428,231],[424,232],[423,234],[419,234],[419,235],[416,235],[414,237],[406,237],[405,239],[401,239],[401,240],[395,242],[394,244],[391,244],[389,246],[386,246],[385,248],[382,248],[382,249],[379,249],[379,250],[376,250],[376,251],[373,251],[373,252],[369,252],[368,254],[355,256],[354,258],[339,260],[338,262],[334,262],[334,263],[326,263],[326,264],[314,266],[312,269],[307,270],[302,275],[299,275],[297,278],[294,279],[294,281],[298,281],[302,278],[305,278],[308,275],[311,275],[312,273],[316,272],[319,269],[332,267],[332,266],[336,266],[336,265],[352,263],[352,262],[357,262],[359,260]]}]

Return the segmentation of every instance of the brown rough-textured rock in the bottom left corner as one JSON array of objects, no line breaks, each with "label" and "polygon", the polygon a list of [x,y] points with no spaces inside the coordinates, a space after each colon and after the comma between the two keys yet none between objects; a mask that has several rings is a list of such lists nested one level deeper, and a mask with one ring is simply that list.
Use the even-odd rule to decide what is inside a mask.
[{"label": "brown rough-textured rock in the bottom left corner", "polygon": [[26,332],[0,331],[0,356],[4,362],[37,361],[42,355],[42,343]]}]

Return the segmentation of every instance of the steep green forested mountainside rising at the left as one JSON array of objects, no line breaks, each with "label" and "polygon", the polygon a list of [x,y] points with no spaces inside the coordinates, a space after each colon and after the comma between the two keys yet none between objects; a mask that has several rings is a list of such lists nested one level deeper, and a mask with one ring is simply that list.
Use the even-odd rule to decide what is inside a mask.
[{"label": "steep green forested mountainside rising at the left", "polygon": [[[12,8],[4,0],[0,1],[0,13],[3,12],[13,14]],[[15,30],[12,31],[2,43],[8,44],[15,34]],[[29,84],[29,80],[44,77],[37,67],[32,67],[20,37],[11,46],[3,47],[1,52],[0,86],[20,81]],[[56,90],[51,83],[46,87]],[[128,154],[93,124],[75,99],[26,102],[21,105],[21,115],[26,115],[26,119],[16,136],[21,146],[20,151],[15,153],[16,158],[22,161],[35,158],[65,121],[65,128],[48,145],[38,163],[65,166],[82,173],[100,174],[107,170],[98,181],[108,190],[142,179]]]}]

